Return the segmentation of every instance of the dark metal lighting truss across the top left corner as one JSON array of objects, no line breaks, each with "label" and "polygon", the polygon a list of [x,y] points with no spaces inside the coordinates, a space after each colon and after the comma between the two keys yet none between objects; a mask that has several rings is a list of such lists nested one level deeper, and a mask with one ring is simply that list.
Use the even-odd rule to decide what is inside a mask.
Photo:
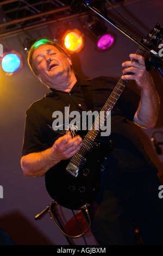
[{"label": "dark metal lighting truss across the top left corner", "polygon": [[[128,1],[131,0],[112,0],[110,2]],[[91,0],[90,2],[95,3],[98,8],[106,9],[105,0]],[[71,0],[0,1],[0,38],[89,12],[85,7],[78,11],[72,11],[70,3]]]}]

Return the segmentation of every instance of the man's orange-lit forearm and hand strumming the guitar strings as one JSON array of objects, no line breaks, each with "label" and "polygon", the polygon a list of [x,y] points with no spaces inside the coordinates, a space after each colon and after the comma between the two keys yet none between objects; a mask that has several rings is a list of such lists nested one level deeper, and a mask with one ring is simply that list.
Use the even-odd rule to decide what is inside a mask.
[{"label": "man's orange-lit forearm and hand strumming the guitar strings", "polygon": [[60,137],[52,148],[23,156],[21,166],[26,176],[41,176],[61,160],[69,159],[82,147],[82,138],[71,133]]}]

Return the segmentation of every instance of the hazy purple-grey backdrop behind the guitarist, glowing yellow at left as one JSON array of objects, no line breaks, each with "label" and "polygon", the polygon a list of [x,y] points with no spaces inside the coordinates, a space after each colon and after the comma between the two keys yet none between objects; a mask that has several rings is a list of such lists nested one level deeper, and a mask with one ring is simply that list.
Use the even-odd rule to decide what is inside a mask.
[{"label": "hazy purple-grey backdrop behind the guitarist, glowing yellow at left", "polygon": [[[134,23],[146,35],[153,29],[156,23],[163,27],[163,3],[162,0],[134,1],[118,5],[117,9]],[[141,39],[141,36],[134,32],[123,20],[115,15],[113,10],[108,11],[121,26],[125,26],[127,31]],[[67,21],[70,28],[78,28],[85,34],[82,22],[85,17],[71,19]],[[122,62],[129,59],[130,53],[135,53],[138,46],[127,36],[123,35],[116,28],[105,22],[108,30],[116,34],[116,42],[111,50],[97,52],[95,43],[85,34],[85,46],[79,53],[73,54],[74,70],[82,78],[92,78],[99,75],[111,75],[121,77]],[[45,36],[52,38],[59,27],[63,28],[64,22],[37,28],[29,33],[34,37]],[[45,214],[41,220],[35,221],[35,216],[39,214],[52,202],[49,197],[44,177],[27,178],[23,175],[20,158],[23,142],[24,120],[26,109],[33,101],[40,99],[49,92],[39,80],[32,74],[27,64],[27,56],[22,47],[25,38],[24,33],[6,36],[0,43],[20,52],[23,56],[23,67],[13,76],[6,76],[0,72],[0,105],[1,105],[1,170],[0,185],[3,186],[3,198],[0,199],[0,244],[12,243],[6,239],[4,232],[17,245],[68,245],[66,237],[55,226],[49,214]],[[157,125],[154,129],[144,130],[134,126],[139,134],[147,153],[159,169],[159,178],[163,183],[163,156],[156,154],[154,145],[151,142],[151,135],[155,133],[157,141],[163,142],[163,120],[162,120],[162,96],[163,83],[158,71],[152,71],[156,89],[158,90],[161,109]],[[161,146],[163,150],[163,147]],[[160,199],[161,200],[161,199]],[[162,199],[163,203],[163,199]],[[63,224],[71,225],[72,212],[67,209],[57,207],[57,214]],[[71,220],[71,221],[70,221]],[[69,230],[70,228],[68,228]],[[91,232],[87,233],[86,241],[89,245],[96,245]],[[75,245],[84,245],[83,238],[71,240]]]}]

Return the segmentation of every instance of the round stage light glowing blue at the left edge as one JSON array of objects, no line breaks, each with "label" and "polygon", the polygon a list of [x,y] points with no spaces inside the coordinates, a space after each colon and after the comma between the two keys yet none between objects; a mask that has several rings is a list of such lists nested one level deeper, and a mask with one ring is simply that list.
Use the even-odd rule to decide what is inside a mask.
[{"label": "round stage light glowing blue at the left edge", "polygon": [[1,66],[6,75],[12,75],[22,68],[22,57],[19,53],[11,51],[3,54]]}]

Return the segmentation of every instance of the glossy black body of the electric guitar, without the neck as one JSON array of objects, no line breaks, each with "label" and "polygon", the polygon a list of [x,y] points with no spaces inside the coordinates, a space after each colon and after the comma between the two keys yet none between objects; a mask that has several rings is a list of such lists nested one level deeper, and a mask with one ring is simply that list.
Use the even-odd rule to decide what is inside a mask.
[{"label": "glossy black body of the electric guitar, without the neck", "polygon": [[110,153],[110,144],[98,144],[93,152],[87,152],[86,162],[77,176],[66,170],[70,159],[63,160],[48,170],[45,176],[46,189],[59,205],[68,209],[80,209],[92,202],[98,190],[101,164]]}]

